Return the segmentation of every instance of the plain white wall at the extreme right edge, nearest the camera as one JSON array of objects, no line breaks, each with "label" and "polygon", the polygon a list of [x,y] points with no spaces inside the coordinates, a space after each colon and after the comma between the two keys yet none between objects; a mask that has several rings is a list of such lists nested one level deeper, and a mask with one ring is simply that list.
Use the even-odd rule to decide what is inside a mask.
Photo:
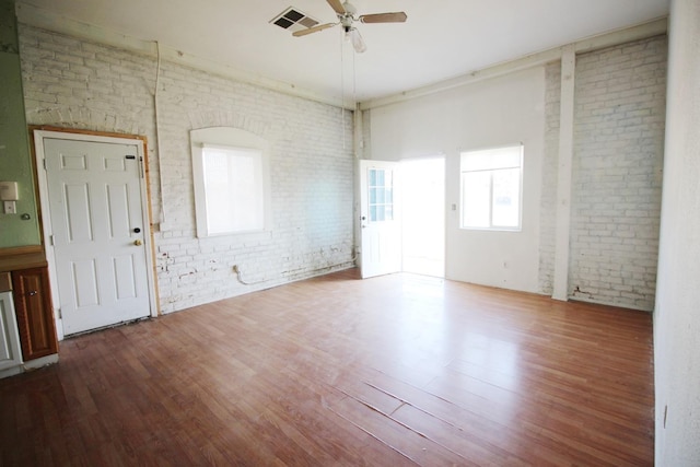
[{"label": "plain white wall at the extreme right edge, nearest the camera", "polygon": [[[700,465],[700,2],[672,0],[654,370],[656,466]],[[667,409],[666,409],[667,408]]]}]

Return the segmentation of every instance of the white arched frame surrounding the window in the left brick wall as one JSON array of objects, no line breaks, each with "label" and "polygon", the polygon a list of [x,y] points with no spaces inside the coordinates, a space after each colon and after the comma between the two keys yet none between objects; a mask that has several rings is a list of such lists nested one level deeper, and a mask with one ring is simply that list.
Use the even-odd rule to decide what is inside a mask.
[{"label": "white arched frame surrounding the window in the left brick wall", "polygon": [[[269,183],[269,144],[262,138],[245,130],[231,127],[212,127],[190,131],[191,162],[192,162],[192,185],[195,192],[195,220],[197,225],[197,237],[219,237],[226,235],[249,234],[266,232],[271,225],[270,206],[270,183]],[[218,149],[232,151],[232,153],[244,153],[257,155],[261,170],[260,196],[261,196],[261,227],[255,229],[233,229],[228,231],[210,231],[209,219],[215,213],[209,212],[207,203],[207,187],[205,183],[205,149]]]}]

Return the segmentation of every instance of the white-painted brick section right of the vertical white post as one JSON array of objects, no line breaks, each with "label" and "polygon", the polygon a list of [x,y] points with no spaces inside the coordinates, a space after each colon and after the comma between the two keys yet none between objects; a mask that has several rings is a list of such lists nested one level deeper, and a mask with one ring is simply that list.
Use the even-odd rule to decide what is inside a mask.
[{"label": "white-painted brick section right of the vertical white post", "polygon": [[666,37],[576,59],[570,295],[651,311],[656,287]]}]

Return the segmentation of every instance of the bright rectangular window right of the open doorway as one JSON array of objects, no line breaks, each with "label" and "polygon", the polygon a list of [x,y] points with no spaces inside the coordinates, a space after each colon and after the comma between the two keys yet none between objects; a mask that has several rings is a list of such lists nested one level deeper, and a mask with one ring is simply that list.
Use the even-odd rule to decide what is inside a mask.
[{"label": "bright rectangular window right of the open doorway", "polygon": [[521,230],[523,145],[462,153],[462,229]]}]

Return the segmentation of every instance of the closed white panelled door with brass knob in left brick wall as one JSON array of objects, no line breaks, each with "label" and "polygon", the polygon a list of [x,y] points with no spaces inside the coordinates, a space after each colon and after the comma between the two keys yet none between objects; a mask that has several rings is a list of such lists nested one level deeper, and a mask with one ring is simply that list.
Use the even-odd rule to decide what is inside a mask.
[{"label": "closed white panelled door with brass knob in left brick wall", "polygon": [[63,332],[150,315],[137,144],[43,141]]}]

